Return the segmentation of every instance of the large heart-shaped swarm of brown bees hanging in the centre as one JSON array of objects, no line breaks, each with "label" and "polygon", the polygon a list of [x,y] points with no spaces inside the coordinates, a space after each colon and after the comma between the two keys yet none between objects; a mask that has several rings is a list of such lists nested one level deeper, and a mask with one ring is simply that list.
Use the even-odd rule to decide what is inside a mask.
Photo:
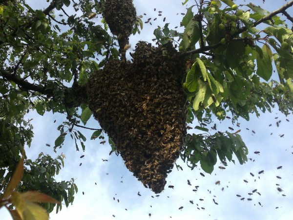
[{"label": "large heart-shaped swarm of brown bees hanging in the centre", "polygon": [[184,62],[171,43],[136,45],[133,63],[110,60],[88,81],[88,104],[117,146],[126,167],[153,192],[167,174],[186,136]]}]

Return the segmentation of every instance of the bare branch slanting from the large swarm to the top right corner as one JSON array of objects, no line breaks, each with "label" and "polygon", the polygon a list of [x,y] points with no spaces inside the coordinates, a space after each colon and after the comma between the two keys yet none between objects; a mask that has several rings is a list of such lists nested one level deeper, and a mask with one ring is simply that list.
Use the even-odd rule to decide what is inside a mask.
[{"label": "bare branch slanting from the large swarm to the top right corner", "polygon": [[[293,0],[288,2],[287,4],[283,5],[279,9],[277,9],[275,11],[272,11],[270,14],[268,14],[268,15],[262,17],[261,19],[257,20],[256,22],[253,23],[252,26],[255,27],[255,26],[257,26],[258,24],[260,24],[260,23],[262,23],[264,21],[270,20],[270,19],[272,19],[273,16],[275,16],[277,14],[280,14],[280,13],[284,14],[284,12],[286,13],[286,9],[291,7],[292,5],[293,5]],[[243,33],[246,30],[247,30],[246,26],[238,29],[234,34],[231,35],[231,39],[233,39],[234,37],[238,36],[239,34]],[[212,45],[208,45],[208,46],[202,46],[201,48],[198,48],[198,49],[195,49],[195,50],[190,50],[190,51],[183,52],[182,54],[180,54],[180,56],[187,56],[187,55],[190,55],[190,54],[205,52],[205,51],[208,51],[210,49],[219,47],[220,45],[222,45],[222,44],[220,42],[218,42],[216,44],[212,44]]]}]

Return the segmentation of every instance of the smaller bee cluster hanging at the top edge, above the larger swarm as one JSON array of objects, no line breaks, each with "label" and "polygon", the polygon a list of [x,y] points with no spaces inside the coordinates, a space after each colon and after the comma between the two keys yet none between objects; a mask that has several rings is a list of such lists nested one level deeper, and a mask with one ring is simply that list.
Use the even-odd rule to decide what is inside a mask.
[{"label": "smaller bee cluster hanging at the top edge, above the larger swarm", "polygon": [[112,34],[117,36],[120,52],[123,52],[136,20],[132,0],[106,0],[104,18]]}]

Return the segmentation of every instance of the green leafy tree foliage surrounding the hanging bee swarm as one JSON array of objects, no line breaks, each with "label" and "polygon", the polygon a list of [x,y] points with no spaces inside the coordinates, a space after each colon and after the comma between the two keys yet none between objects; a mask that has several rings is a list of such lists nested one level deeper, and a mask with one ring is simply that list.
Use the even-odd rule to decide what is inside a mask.
[{"label": "green leafy tree foliage surrounding the hanging bee swarm", "polygon": [[[186,4],[188,0],[183,2]],[[182,79],[187,95],[187,123],[198,121],[202,133],[188,134],[181,158],[191,169],[200,163],[211,173],[217,158],[227,165],[233,155],[242,164],[248,148],[236,132],[211,134],[211,117],[250,119],[250,114],[271,111],[275,105],[285,115],[293,109],[293,31],[280,18],[293,5],[289,1],[268,12],[253,3],[237,7],[232,0],[199,0],[189,7],[180,25],[182,33],[164,27],[154,30],[157,44],[171,42],[186,61]],[[249,9],[249,10],[248,10]],[[44,10],[25,0],[0,3],[0,181],[2,192],[30,146],[33,128],[25,114],[36,110],[65,114],[54,149],[65,138],[85,150],[82,129],[92,112],[86,84],[90,75],[111,59],[119,59],[119,44],[103,19],[104,0],[50,0]],[[62,16],[58,16],[61,14]],[[92,18],[101,16],[97,24]],[[133,34],[143,27],[136,17]],[[261,25],[260,25],[261,24]],[[261,29],[258,29],[261,26]],[[170,58],[171,59],[171,58]],[[277,79],[272,79],[273,66]],[[228,116],[230,115],[230,116]],[[92,139],[104,138],[101,130]],[[112,150],[115,143],[109,140]],[[24,156],[24,175],[18,191],[39,190],[52,198],[73,202],[73,179],[57,182],[64,155],[56,159],[40,154],[36,161]],[[16,206],[16,204],[14,204]],[[43,204],[51,212],[54,203]],[[58,204],[57,211],[61,209]]]}]

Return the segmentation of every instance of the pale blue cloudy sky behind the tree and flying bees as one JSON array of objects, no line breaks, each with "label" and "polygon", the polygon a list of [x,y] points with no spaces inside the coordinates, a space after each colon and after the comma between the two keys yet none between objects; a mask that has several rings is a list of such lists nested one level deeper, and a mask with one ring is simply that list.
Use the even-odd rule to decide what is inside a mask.
[{"label": "pale blue cloudy sky behind the tree and flying bees", "polygon": [[[188,6],[192,2],[189,1]],[[27,2],[30,3],[32,0]],[[37,2],[34,4],[35,8],[45,7],[45,1],[44,4]],[[153,20],[158,17],[158,11],[163,12],[161,18],[158,17],[152,25],[144,23],[140,35],[130,37],[131,47],[133,48],[141,40],[151,42],[154,38],[153,29],[157,25],[164,26],[162,23],[164,17],[166,22],[170,22],[169,27],[180,26],[181,13],[186,12],[186,5],[182,6],[181,2],[180,0],[134,0],[137,15],[146,13],[143,21],[147,21],[148,18]],[[243,3],[240,0],[235,2]],[[266,0],[263,4],[262,0],[258,0],[253,3],[272,11],[286,2]],[[292,12],[291,9],[291,14]],[[87,138],[85,152],[76,152],[74,142],[67,137],[64,146],[54,153],[52,146],[59,135],[57,127],[65,118],[52,112],[46,112],[44,116],[30,112],[26,117],[33,119],[31,122],[35,133],[31,147],[25,149],[28,158],[35,159],[40,152],[50,154],[52,157],[65,154],[65,166],[55,178],[61,181],[73,177],[79,189],[73,205],[66,208],[64,204],[58,214],[53,211],[50,214],[51,220],[288,220],[293,217],[293,141],[291,139],[293,116],[290,114],[286,118],[278,112],[277,108],[274,108],[272,113],[262,113],[259,118],[251,115],[249,122],[240,119],[240,128],[232,125],[230,120],[222,123],[214,120],[213,123],[217,124],[218,131],[229,131],[228,127],[241,129],[239,134],[249,148],[248,162],[240,165],[233,157],[235,164],[230,162],[225,170],[221,170],[218,166],[222,164],[218,163],[214,172],[209,175],[204,173],[200,166],[191,171],[179,158],[176,163],[183,168],[183,171],[173,169],[167,177],[166,189],[158,194],[158,197],[132,176],[121,156],[109,155],[111,148],[107,142],[100,144],[100,140],[90,140],[91,131],[81,130]],[[276,122],[280,120],[277,127]],[[196,125],[194,121],[192,127]],[[100,128],[98,121],[93,118],[86,126]],[[189,132],[196,131],[189,130]],[[281,137],[282,134],[284,136]],[[51,147],[46,147],[46,144]],[[255,151],[260,153],[254,154]],[[80,158],[81,155],[84,157]],[[103,161],[105,159],[107,161]],[[282,169],[277,169],[279,166],[282,166]],[[264,173],[258,174],[262,170]],[[205,176],[201,176],[200,173],[204,173]],[[188,180],[191,186],[188,185]],[[220,181],[220,185],[215,184],[217,181]],[[280,185],[283,192],[277,191],[276,184]],[[168,188],[168,185],[173,185],[174,189]],[[197,192],[192,191],[195,186],[198,186]],[[248,193],[252,193],[255,189],[257,191],[250,196]],[[241,200],[241,198],[245,199]],[[179,210],[180,207],[183,208]],[[12,218],[6,210],[0,209],[0,219]]]}]

